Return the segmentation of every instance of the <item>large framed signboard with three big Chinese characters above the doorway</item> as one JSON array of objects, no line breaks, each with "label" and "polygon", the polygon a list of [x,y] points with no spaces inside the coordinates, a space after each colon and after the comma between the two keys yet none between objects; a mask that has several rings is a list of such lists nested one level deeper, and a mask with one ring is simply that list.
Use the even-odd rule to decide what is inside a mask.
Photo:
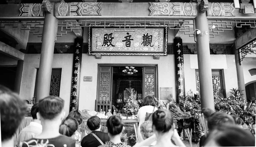
[{"label": "large framed signboard with three big Chinese characters above the doorway", "polygon": [[167,55],[167,28],[89,27],[89,55]]}]

